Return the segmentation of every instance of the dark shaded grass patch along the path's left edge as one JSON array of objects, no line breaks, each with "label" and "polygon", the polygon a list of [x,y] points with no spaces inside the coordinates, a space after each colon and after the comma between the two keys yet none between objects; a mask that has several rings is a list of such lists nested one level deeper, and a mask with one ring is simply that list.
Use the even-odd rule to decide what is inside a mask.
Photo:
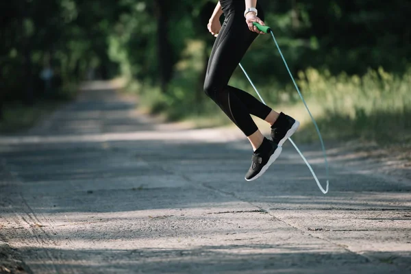
[{"label": "dark shaded grass patch along the path's left edge", "polygon": [[18,134],[58,108],[61,101],[42,101],[28,106],[22,103],[4,103],[0,134]]}]

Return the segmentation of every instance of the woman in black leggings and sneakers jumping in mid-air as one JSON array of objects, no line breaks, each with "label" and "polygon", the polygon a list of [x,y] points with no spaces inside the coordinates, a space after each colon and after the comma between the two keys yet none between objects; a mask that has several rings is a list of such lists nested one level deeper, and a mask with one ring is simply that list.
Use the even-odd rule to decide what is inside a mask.
[{"label": "woman in black leggings and sneakers jumping in mid-air", "polygon": [[[224,13],[223,26],[220,16]],[[220,0],[208,23],[216,41],[208,62],[204,92],[247,136],[253,147],[251,167],[245,179],[260,177],[278,158],[284,142],[294,134],[299,122],[277,113],[249,93],[228,86],[229,78],[258,34],[253,22],[264,25],[264,13],[257,0]],[[271,140],[265,138],[250,114],[271,125]]]}]

